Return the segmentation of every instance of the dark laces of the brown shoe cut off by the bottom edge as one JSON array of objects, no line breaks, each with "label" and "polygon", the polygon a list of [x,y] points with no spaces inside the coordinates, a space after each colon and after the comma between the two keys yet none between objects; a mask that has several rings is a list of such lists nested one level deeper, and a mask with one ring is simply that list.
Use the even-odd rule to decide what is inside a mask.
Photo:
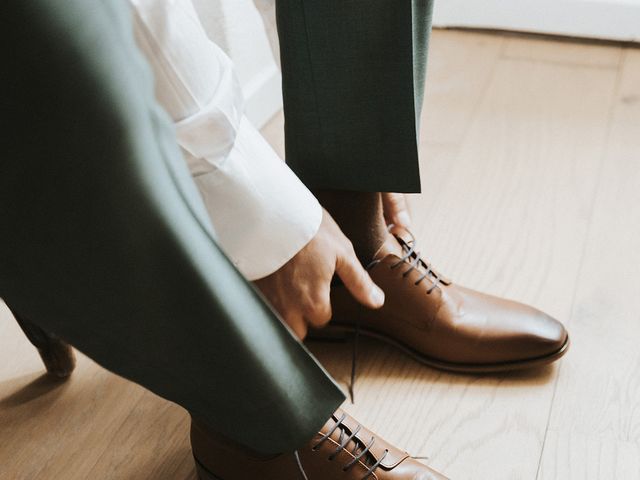
[{"label": "dark laces of the brown shoe cut off by the bottom edge", "polygon": [[[348,472],[349,470],[351,470],[351,468],[353,468],[355,464],[357,464],[360,460],[362,460],[362,463],[367,467],[367,472],[363,477],[361,477],[361,480],[365,480],[369,478],[371,475],[373,475],[373,473],[376,471],[376,469],[380,466],[382,461],[388,455],[389,450],[385,449],[382,456],[378,460],[374,461],[373,463],[371,463],[370,461],[367,462],[367,460],[369,460],[369,457],[366,457],[366,455],[368,453],[370,454],[371,447],[373,447],[373,444],[376,442],[376,439],[375,437],[372,436],[368,444],[365,445],[364,443],[362,443],[360,439],[357,437],[358,432],[360,432],[360,430],[362,429],[362,425],[358,424],[358,426],[353,429],[353,432],[348,433],[349,432],[348,428],[342,423],[344,422],[345,418],[347,418],[347,415],[343,413],[340,419],[338,419],[338,421],[335,423],[335,425],[327,433],[322,435],[320,440],[318,440],[318,442],[311,449],[313,451],[317,451],[320,448],[320,446],[324,442],[326,442],[327,439],[329,439],[329,437],[331,437],[331,435],[333,435],[333,433],[336,430],[339,429],[340,430],[340,437],[338,438],[339,445],[331,453],[331,455],[329,455],[328,457],[329,460],[334,460],[340,452],[342,452],[347,448],[347,445],[349,444],[349,442],[353,441],[354,447],[351,450],[351,455],[353,455],[353,459],[342,467],[342,471]],[[302,478],[304,480],[308,480],[307,474],[304,471],[304,468],[302,467],[302,462],[300,461],[300,455],[298,454],[297,451],[294,452],[294,457],[298,465],[298,469],[300,470],[300,474],[302,475]],[[371,464],[368,465],[367,463],[371,463]]]}]

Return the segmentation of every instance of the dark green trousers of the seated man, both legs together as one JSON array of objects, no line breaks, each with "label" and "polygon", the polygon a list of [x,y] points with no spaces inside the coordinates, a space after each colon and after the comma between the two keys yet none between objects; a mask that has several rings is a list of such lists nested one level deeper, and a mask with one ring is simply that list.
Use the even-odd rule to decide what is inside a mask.
[{"label": "dark green trousers of the seated man, both legs together", "polygon": [[[426,39],[427,16],[414,21],[417,9],[404,1],[278,4],[287,149],[307,182],[315,182],[313,171],[302,172],[292,142],[301,155],[317,154],[318,165],[331,162],[324,169],[337,169],[318,186],[418,188],[423,64],[414,70],[413,60],[425,46],[415,39]],[[292,450],[344,396],[218,248],[171,122],[154,100],[129,15],[124,0],[9,0],[0,7],[0,296],[232,439],[266,453]],[[384,47],[379,58],[370,41]],[[300,53],[305,45],[327,57],[310,64]],[[307,90],[310,79],[315,88]],[[342,90],[356,86],[349,95]],[[317,108],[307,113],[310,93]],[[350,125],[350,118],[376,129]],[[385,141],[374,138],[380,133]],[[351,159],[347,147],[356,152],[360,141],[369,153],[379,144],[404,160],[391,168],[381,152],[360,152],[357,168],[370,181],[359,187],[356,164],[345,177],[340,159]],[[400,167],[408,170],[400,174]],[[382,188],[380,168],[405,180]]]}]

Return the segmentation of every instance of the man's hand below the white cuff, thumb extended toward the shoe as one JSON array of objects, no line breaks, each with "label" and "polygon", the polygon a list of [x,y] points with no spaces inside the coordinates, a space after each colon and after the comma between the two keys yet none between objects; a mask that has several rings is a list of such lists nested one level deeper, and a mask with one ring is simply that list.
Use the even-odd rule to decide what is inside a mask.
[{"label": "man's hand below the white cuff, thumb extended toward the shoe", "polygon": [[315,237],[279,270],[254,283],[303,339],[309,326],[322,327],[331,320],[334,273],[363,305],[380,308],[384,304],[384,293],[358,261],[351,242],[323,211]]}]

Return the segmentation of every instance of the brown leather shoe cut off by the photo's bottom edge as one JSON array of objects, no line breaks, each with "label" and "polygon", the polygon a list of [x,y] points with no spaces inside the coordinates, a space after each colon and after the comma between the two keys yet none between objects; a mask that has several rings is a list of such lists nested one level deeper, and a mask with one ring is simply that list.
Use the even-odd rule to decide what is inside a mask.
[{"label": "brown leather shoe cut off by the photo's bottom edge", "polygon": [[338,410],[295,453],[264,457],[191,422],[200,480],[447,480]]}]

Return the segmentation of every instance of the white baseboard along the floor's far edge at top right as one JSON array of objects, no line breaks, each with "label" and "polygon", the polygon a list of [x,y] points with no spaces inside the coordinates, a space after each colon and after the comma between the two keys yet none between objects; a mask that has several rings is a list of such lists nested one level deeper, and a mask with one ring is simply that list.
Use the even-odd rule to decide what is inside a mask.
[{"label": "white baseboard along the floor's far edge at top right", "polygon": [[471,27],[640,42],[640,2],[630,0],[468,0],[435,3],[434,26]]}]

